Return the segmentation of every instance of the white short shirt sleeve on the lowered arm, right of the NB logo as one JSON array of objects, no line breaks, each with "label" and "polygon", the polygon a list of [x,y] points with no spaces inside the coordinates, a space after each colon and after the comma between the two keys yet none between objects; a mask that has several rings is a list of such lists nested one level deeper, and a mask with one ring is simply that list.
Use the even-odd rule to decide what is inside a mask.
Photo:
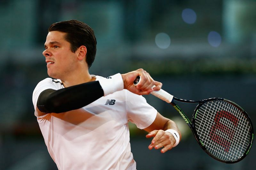
[{"label": "white short shirt sleeve on the lowered arm, right of the NB logo", "polygon": [[136,124],[139,129],[150,126],[156,119],[157,110],[140,95],[126,90],[125,96],[128,121]]}]

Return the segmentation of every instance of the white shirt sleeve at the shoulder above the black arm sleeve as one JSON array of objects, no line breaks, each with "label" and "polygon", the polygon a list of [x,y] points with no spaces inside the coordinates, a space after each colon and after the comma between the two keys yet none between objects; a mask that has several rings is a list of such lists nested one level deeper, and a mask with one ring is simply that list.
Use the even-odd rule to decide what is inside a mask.
[{"label": "white shirt sleeve at the shoulder above the black arm sleeve", "polygon": [[37,116],[36,103],[37,103],[38,97],[39,97],[40,93],[46,89],[58,90],[57,87],[52,83],[51,78],[45,78],[44,80],[40,81],[36,85],[36,88],[33,91],[32,101],[33,101],[33,105],[35,108],[35,116]]}]

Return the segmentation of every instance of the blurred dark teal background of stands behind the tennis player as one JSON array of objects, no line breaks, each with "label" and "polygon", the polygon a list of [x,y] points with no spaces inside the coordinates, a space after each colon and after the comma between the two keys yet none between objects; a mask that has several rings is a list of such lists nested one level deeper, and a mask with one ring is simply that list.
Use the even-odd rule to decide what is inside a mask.
[{"label": "blurred dark teal background of stands behind the tennis player", "polygon": [[[62,20],[81,20],[94,30],[91,74],[143,68],[178,98],[238,103],[256,127],[255,9],[255,0],[0,0],[0,169],[57,169],[34,116],[32,92],[47,77],[47,29]],[[174,108],[145,98],[177,122],[182,141],[164,154],[150,151],[146,133],[130,124],[138,170],[253,169],[255,143],[239,163],[220,163],[200,148]],[[192,116],[193,104],[179,105]]]}]

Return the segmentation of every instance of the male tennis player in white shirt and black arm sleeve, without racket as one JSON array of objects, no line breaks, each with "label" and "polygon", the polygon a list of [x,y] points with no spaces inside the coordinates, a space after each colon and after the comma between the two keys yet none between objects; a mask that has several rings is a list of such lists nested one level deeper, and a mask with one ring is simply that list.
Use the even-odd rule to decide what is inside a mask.
[{"label": "male tennis player in white shirt and black arm sleeve, without racket", "polygon": [[[128,121],[148,131],[146,137],[153,137],[148,148],[162,148],[162,153],[176,146],[181,134],[139,96],[162,86],[145,70],[108,78],[89,74],[96,43],[83,22],[49,27],[43,55],[52,78],[39,82],[33,92],[35,115],[58,169],[136,169]],[[141,81],[134,86],[137,76]]]}]

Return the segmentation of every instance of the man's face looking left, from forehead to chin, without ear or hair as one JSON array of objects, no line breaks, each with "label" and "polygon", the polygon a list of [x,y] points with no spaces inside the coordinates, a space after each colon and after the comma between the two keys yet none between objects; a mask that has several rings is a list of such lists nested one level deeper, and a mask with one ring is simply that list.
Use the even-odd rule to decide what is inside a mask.
[{"label": "man's face looking left, from forehead to chin, without ear or hair", "polygon": [[52,78],[65,79],[75,69],[76,54],[70,50],[70,43],[65,40],[66,33],[51,31],[44,44],[47,73]]}]

